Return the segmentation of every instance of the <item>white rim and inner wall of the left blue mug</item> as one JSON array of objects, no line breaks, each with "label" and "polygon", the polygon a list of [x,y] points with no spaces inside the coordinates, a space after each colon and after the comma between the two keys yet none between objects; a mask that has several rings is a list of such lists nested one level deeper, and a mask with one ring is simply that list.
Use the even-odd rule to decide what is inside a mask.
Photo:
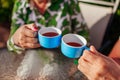
[{"label": "white rim and inner wall of the left blue mug", "polygon": [[49,37],[49,36],[44,36],[43,34],[44,33],[47,33],[47,32],[55,32],[55,33],[58,33],[58,35],[56,36],[53,36],[53,37],[57,37],[59,35],[62,34],[62,31],[59,29],[59,28],[56,28],[56,27],[45,27],[45,28],[41,28],[39,31],[38,31],[38,34],[43,36],[43,37],[48,37],[48,38],[53,38],[53,37]]}]

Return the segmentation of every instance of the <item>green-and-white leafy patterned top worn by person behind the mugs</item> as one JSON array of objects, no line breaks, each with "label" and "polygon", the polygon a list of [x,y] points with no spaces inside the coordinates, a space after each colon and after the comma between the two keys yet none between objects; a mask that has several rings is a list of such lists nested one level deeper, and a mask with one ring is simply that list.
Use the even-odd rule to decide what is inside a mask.
[{"label": "green-and-white leafy patterned top worn by person behind the mugs", "polygon": [[62,30],[63,35],[85,33],[85,22],[81,17],[77,0],[51,0],[44,15],[41,15],[29,0],[16,0],[10,38],[7,42],[10,51],[21,53],[24,50],[14,45],[11,37],[20,26],[30,23],[36,23],[38,27],[57,27]]}]

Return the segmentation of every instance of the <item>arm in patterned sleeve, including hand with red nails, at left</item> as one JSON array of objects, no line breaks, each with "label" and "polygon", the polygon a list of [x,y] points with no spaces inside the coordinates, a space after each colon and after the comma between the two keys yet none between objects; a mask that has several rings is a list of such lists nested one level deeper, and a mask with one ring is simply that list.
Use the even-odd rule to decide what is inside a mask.
[{"label": "arm in patterned sleeve, including hand with red nails, at left", "polygon": [[[35,25],[28,20],[30,15],[30,7],[28,0],[17,0],[13,9],[11,33],[7,46],[10,51],[22,53],[25,49],[40,47],[37,37]],[[32,18],[31,18],[32,20]]]}]

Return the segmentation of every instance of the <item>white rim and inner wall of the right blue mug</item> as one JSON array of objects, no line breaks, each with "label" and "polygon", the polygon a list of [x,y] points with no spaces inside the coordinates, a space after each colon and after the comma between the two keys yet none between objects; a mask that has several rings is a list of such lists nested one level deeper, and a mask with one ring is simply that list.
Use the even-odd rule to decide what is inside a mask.
[{"label": "white rim and inner wall of the right blue mug", "polygon": [[[73,36],[75,36],[76,38],[79,38],[80,39],[80,44],[81,44],[81,46],[80,47],[83,47],[83,46],[86,46],[87,45],[87,40],[83,37],[83,36],[81,36],[81,35],[78,35],[78,34],[73,34],[73,33],[68,33],[68,34],[65,34],[63,37],[62,37],[62,42],[64,43],[64,44],[66,44],[67,46],[69,46],[69,47],[74,47],[74,48],[79,48],[79,47],[75,47],[75,46],[71,46],[71,45],[68,45],[67,44],[67,42],[64,40],[64,38],[66,38],[66,37],[73,37]],[[67,39],[68,40],[68,39]],[[82,41],[81,41],[82,40]],[[70,42],[74,42],[74,41],[70,41]]]}]

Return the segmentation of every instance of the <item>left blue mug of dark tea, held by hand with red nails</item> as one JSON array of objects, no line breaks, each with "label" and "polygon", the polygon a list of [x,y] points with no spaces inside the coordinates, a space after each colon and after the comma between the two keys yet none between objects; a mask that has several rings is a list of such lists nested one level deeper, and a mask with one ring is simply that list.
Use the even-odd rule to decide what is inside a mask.
[{"label": "left blue mug of dark tea, held by hand with red nails", "polygon": [[38,31],[38,40],[44,48],[56,48],[61,43],[62,32],[56,27],[41,28]]}]

